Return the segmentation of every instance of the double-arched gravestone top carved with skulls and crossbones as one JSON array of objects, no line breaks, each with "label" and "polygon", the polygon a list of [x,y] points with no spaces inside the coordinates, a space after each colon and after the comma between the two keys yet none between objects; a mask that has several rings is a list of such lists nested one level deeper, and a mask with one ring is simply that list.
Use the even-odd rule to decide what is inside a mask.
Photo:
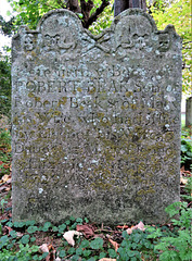
[{"label": "double-arched gravestone top carved with skulls and crossbones", "polygon": [[140,51],[166,52],[176,45],[178,35],[174,26],[157,30],[153,17],[141,9],[128,9],[114,18],[110,28],[100,35],[92,35],[82,27],[79,17],[68,10],[53,10],[40,20],[37,29],[21,26],[13,37],[13,61],[18,53],[35,51],[37,55],[63,55],[63,59],[76,59],[90,51],[95,59],[97,51],[117,52],[119,58],[126,53]]}]

